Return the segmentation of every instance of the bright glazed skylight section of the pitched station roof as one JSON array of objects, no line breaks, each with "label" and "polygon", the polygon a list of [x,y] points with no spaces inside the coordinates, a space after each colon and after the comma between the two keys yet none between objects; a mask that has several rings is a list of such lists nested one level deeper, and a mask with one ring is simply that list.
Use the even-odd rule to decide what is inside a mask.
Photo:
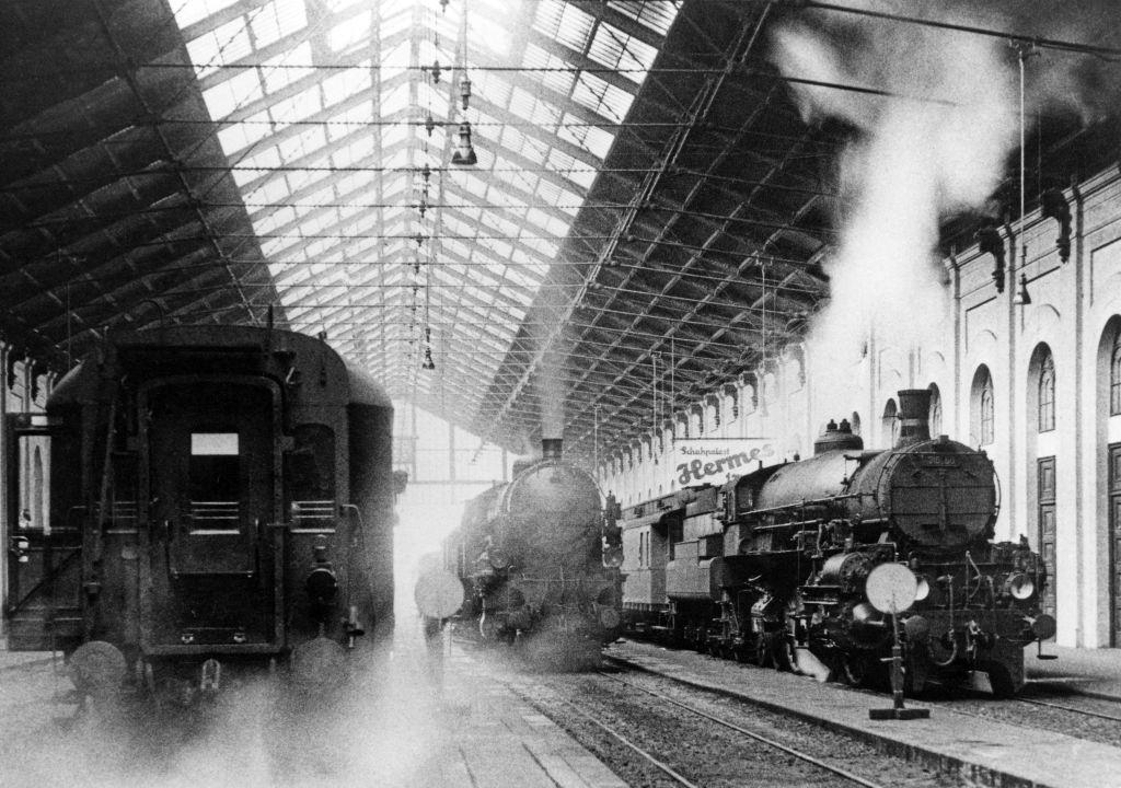
[{"label": "bright glazed skylight section of the pitched station roof", "polygon": [[172,0],[288,323],[467,414],[678,6]]}]

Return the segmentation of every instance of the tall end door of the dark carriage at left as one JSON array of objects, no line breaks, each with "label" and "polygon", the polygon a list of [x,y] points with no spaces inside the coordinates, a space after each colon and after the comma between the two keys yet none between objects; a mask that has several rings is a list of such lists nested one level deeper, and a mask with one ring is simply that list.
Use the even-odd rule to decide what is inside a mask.
[{"label": "tall end door of the dark carriage at left", "polygon": [[[279,391],[260,379],[164,380],[141,395],[150,653],[267,650],[279,622],[274,480]],[[145,580],[145,578],[142,578]],[[215,647],[225,646],[225,649]]]}]

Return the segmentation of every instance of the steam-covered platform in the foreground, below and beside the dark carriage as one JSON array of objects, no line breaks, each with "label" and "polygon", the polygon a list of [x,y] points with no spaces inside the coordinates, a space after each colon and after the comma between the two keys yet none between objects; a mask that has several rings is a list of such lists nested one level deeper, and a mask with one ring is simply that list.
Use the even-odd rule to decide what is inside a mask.
[{"label": "steam-covered platform in the foreground, below and beside the dark carriage", "polygon": [[473,657],[445,642],[433,669],[434,655],[418,642],[407,637],[395,646],[377,703],[339,734],[285,742],[279,768],[251,702],[174,748],[138,748],[122,742],[115,724],[74,725],[76,697],[61,657],[0,649],[0,786],[627,788],[554,722],[474,669]]}]

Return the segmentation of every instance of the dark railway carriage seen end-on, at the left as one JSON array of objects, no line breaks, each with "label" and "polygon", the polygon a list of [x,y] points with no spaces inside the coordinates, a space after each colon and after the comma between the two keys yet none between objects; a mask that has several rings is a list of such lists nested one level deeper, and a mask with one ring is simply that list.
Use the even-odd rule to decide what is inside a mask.
[{"label": "dark railway carriage seen end-on, at the left", "polygon": [[132,675],[189,696],[247,664],[339,683],[392,628],[391,426],[319,340],[112,337],[45,416],[9,417],[9,647],[63,650],[92,695]]}]

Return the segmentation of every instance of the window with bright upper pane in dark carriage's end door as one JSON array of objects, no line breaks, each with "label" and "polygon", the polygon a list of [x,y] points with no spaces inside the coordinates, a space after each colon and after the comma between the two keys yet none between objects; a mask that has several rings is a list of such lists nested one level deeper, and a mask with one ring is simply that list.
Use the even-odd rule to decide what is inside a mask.
[{"label": "window with bright upper pane in dark carriage's end door", "polygon": [[235,531],[241,525],[241,462],[237,433],[192,433],[192,529]]}]

